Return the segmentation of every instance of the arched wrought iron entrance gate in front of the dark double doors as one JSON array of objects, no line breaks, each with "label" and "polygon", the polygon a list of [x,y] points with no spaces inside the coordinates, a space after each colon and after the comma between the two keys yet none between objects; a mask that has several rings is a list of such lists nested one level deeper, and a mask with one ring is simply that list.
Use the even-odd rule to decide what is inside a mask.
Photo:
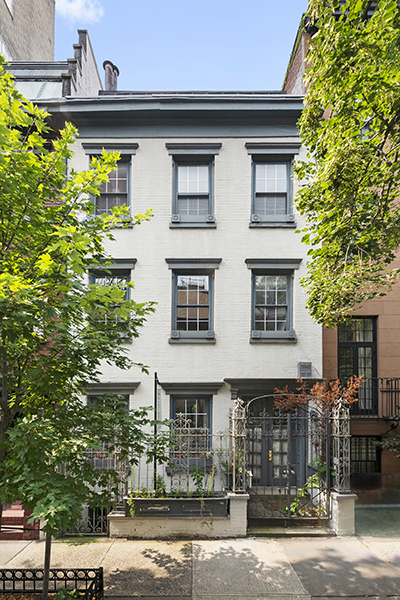
[{"label": "arched wrought iron entrance gate in front of the dark double doors", "polygon": [[250,494],[249,519],[328,519],[331,487],[349,486],[349,411],[311,399],[285,412],[273,400],[236,403],[233,446],[243,462],[235,491]]}]

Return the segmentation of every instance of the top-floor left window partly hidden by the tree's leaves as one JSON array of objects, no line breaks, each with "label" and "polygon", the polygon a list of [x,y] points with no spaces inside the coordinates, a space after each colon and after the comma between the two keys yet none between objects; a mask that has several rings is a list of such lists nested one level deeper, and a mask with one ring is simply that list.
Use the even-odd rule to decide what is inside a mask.
[{"label": "top-floor left window partly hidden by the tree's leaves", "polygon": [[138,144],[102,144],[83,143],[86,154],[98,157],[103,150],[120,152],[117,166],[108,174],[108,181],[100,186],[100,195],[95,196],[95,212],[97,215],[112,214],[114,208],[130,206],[130,172],[132,155],[136,154]]}]

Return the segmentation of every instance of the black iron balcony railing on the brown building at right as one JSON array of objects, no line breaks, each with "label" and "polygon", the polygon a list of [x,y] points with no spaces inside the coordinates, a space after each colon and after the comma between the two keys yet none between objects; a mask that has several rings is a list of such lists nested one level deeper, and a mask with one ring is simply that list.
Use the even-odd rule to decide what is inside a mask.
[{"label": "black iron balcony railing on the brown building at right", "polygon": [[400,377],[363,379],[350,414],[353,418],[400,417]]}]

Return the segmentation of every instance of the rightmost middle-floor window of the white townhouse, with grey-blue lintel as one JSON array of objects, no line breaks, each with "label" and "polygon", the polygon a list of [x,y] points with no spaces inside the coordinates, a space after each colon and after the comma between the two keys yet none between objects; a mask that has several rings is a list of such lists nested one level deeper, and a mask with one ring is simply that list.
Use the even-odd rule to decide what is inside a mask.
[{"label": "rightmost middle-floor window of the white townhouse, with grey-blue lintel", "polygon": [[301,259],[246,259],[252,270],[252,343],[296,342],[293,272]]}]

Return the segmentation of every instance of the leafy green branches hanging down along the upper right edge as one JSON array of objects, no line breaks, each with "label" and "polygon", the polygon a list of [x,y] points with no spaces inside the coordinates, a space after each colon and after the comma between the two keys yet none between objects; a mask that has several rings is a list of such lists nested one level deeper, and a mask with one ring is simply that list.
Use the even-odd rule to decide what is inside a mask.
[{"label": "leafy green branches hanging down along the upper right edge", "polygon": [[310,0],[307,18],[317,33],[300,119],[309,154],[296,168],[311,246],[303,285],[311,315],[334,326],[399,275],[400,16],[396,0]]}]

